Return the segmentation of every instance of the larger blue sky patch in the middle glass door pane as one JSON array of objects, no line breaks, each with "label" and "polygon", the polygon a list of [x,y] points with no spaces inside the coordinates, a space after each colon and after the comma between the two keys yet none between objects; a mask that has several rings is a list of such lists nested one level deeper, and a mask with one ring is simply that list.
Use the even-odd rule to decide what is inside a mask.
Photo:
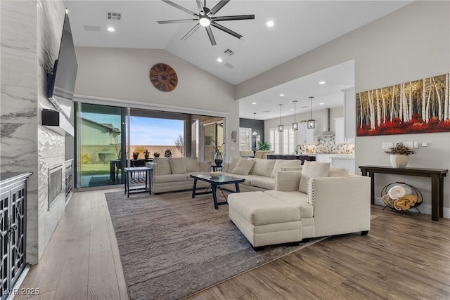
[{"label": "larger blue sky patch in the middle glass door pane", "polygon": [[130,117],[130,145],[175,145],[178,133],[184,135],[184,121]]}]

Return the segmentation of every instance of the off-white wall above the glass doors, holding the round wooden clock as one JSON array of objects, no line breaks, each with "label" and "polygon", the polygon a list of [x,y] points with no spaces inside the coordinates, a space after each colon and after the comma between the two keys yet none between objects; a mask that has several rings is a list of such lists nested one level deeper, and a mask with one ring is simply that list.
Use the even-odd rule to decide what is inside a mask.
[{"label": "off-white wall above the glass doors, holding the round wooden clock", "polygon": [[[239,128],[239,104],[234,100],[233,85],[165,50],[77,47],[77,58],[77,100],[99,97],[118,100],[124,106],[227,116],[227,151],[229,156],[238,156],[238,143],[230,141],[231,131]],[[149,72],[156,63],[174,68],[178,75],[176,89],[163,92],[151,84]]]}]

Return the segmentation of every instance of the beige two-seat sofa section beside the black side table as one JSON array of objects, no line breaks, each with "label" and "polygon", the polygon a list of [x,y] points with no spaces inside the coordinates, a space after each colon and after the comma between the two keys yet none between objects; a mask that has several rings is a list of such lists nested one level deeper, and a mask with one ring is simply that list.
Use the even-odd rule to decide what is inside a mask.
[{"label": "beige two-seat sofa section beside the black side table", "polygon": [[[165,193],[176,190],[191,190],[191,174],[205,174],[211,171],[210,162],[199,162],[196,157],[155,157],[146,167],[153,168],[152,192]],[[198,181],[198,188],[207,188],[205,181]]]}]

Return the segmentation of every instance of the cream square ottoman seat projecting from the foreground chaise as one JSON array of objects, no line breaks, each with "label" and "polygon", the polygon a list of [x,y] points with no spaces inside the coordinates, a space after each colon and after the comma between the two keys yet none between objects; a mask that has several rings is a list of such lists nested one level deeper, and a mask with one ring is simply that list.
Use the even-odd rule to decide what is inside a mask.
[{"label": "cream square ottoman seat projecting from the foreground chaise", "polygon": [[263,192],[228,196],[229,217],[254,248],[268,244],[300,242],[300,211]]}]

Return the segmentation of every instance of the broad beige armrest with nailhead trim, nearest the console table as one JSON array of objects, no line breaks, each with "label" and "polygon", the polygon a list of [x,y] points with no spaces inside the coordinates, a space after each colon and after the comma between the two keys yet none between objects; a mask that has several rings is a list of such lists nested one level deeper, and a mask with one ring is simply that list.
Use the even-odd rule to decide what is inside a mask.
[{"label": "broad beige armrest with nailhead trim, nearest the console table", "polygon": [[371,226],[371,178],[309,178],[316,236],[366,231]]}]

